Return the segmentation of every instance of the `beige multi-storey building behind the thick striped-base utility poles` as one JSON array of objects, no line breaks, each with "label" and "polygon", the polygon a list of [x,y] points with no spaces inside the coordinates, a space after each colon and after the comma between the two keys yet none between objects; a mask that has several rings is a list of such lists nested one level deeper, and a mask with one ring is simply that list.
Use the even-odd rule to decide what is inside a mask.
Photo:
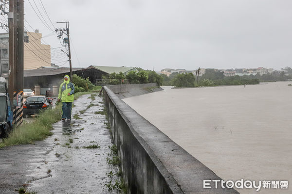
[{"label": "beige multi-storey building behind the thick striped-base utility poles", "polygon": [[[51,66],[51,46],[41,44],[42,34],[24,32],[24,69],[37,69],[41,66]],[[8,73],[9,64],[9,34],[0,33],[1,62],[4,73]]]}]

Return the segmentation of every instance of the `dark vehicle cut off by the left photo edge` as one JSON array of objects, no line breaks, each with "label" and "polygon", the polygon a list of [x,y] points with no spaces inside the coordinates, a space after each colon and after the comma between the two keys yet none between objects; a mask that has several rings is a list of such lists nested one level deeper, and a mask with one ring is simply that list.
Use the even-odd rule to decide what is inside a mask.
[{"label": "dark vehicle cut off by the left photo edge", "polygon": [[13,127],[13,107],[7,94],[6,81],[0,77],[0,138],[6,137]]}]

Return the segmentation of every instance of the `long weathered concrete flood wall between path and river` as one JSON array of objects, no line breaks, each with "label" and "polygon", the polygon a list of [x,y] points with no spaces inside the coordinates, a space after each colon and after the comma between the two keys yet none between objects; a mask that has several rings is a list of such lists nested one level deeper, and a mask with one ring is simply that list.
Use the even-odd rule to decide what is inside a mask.
[{"label": "long weathered concrete flood wall between path and river", "polygon": [[[129,194],[238,194],[203,189],[204,179],[221,179],[135,112],[115,93],[136,93],[150,85],[105,86],[105,106]],[[211,184],[212,185],[212,184]],[[225,187],[226,188],[226,187]]]}]

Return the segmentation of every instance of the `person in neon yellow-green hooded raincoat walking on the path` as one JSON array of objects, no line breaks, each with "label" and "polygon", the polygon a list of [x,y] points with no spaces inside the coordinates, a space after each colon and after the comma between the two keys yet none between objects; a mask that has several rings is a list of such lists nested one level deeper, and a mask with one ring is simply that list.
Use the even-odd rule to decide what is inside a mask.
[{"label": "person in neon yellow-green hooded raincoat walking on the path", "polygon": [[74,101],[74,85],[70,82],[68,75],[64,76],[64,81],[59,88],[58,102],[61,101],[62,120],[71,120],[72,102]]}]

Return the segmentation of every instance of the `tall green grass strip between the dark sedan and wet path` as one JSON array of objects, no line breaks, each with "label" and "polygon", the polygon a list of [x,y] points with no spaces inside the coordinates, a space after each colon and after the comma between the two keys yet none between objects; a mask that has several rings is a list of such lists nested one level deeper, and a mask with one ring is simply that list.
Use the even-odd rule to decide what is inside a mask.
[{"label": "tall green grass strip between the dark sedan and wet path", "polygon": [[13,146],[19,144],[32,144],[34,141],[43,140],[52,135],[52,124],[61,118],[61,106],[55,109],[47,109],[32,123],[25,123],[14,129],[0,144],[0,148],[4,146]]}]

